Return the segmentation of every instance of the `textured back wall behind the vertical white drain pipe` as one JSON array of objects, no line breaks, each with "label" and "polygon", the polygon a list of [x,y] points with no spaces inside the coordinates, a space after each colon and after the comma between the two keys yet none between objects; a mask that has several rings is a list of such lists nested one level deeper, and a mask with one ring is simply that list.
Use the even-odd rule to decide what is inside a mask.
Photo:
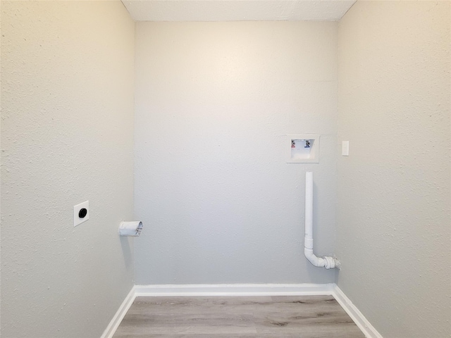
[{"label": "textured back wall behind the vertical white drain pipe", "polygon": [[[137,23],[137,284],[333,282],[337,23]],[[285,134],[321,134],[319,164]],[[323,211],[321,215],[319,210]]]}]

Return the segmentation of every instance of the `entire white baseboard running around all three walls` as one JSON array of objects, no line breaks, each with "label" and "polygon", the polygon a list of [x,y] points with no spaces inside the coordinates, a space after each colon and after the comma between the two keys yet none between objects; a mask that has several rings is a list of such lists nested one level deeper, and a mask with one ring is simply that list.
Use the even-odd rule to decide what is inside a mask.
[{"label": "entire white baseboard running around all three walls", "polygon": [[101,338],[111,338],[138,296],[333,296],[366,338],[383,338],[335,283],[135,285]]}]

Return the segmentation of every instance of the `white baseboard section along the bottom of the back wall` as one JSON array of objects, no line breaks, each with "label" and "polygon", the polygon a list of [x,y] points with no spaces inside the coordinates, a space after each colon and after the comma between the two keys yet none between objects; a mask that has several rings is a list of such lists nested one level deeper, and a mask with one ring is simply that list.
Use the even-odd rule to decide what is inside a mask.
[{"label": "white baseboard section along the bottom of the back wall", "polygon": [[136,296],[288,296],[333,293],[335,284],[135,285]]}]

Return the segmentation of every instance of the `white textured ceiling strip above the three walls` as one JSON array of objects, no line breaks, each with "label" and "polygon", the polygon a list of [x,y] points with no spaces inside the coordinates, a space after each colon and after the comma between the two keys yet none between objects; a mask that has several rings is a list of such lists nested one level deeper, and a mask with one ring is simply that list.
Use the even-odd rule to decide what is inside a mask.
[{"label": "white textured ceiling strip above the three walls", "polygon": [[355,1],[122,0],[136,21],[335,21]]}]

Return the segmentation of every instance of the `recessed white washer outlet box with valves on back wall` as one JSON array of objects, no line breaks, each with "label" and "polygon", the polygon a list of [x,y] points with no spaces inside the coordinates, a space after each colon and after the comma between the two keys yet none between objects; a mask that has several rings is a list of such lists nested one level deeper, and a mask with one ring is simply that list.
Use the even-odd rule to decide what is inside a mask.
[{"label": "recessed white washer outlet box with valves on back wall", "polygon": [[287,135],[287,163],[319,163],[319,135]]}]

